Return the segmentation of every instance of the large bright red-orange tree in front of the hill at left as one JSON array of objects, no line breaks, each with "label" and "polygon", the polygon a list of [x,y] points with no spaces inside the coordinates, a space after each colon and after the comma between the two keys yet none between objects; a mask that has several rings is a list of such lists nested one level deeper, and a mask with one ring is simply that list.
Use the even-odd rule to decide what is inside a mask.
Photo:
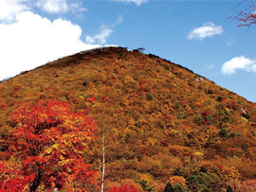
[{"label": "large bright red-orange tree in front of the hill at left", "polygon": [[21,104],[10,122],[16,130],[9,150],[22,160],[19,174],[33,178],[29,191],[42,183],[58,189],[68,183],[69,191],[86,191],[84,183],[95,182],[95,172],[82,158],[96,131],[94,119],[86,113],[74,113],[68,103],[50,100]]}]

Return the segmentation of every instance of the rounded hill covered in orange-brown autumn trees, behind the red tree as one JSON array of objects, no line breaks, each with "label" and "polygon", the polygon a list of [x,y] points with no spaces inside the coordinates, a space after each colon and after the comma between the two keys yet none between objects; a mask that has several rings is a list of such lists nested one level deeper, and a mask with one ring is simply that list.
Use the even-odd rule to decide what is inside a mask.
[{"label": "rounded hill covered in orange-brown autumn trees, behind the red tree", "polygon": [[[255,103],[141,52],[93,49],[2,81],[1,142],[11,132],[9,113],[21,101],[68,101],[98,122],[100,133],[84,154],[95,170],[104,130],[106,188],[134,183],[163,191],[168,182],[180,191],[255,186]],[[9,161],[7,150],[2,145],[1,161]]]}]

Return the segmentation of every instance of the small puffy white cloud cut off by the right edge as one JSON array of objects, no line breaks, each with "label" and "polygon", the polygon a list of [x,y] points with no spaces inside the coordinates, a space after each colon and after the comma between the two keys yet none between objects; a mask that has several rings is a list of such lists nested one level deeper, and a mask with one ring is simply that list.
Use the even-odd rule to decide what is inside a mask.
[{"label": "small puffy white cloud cut off by the right edge", "polygon": [[227,75],[235,74],[237,70],[256,72],[256,60],[247,59],[245,56],[235,57],[225,62],[221,68],[221,72]]}]

